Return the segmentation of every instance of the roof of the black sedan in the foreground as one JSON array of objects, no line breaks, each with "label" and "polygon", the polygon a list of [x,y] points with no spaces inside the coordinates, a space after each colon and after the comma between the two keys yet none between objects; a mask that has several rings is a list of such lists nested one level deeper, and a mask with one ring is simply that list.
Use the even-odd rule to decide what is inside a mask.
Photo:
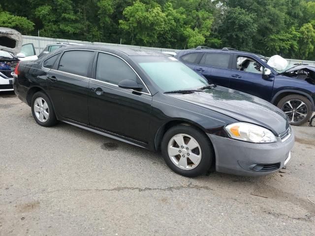
[{"label": "roof of the black sedan in the foreground", "polygon": [[95,50],[95,51],[104,51],[104,52],[119,52],[125,54],[126,56],[164,56],[165,54],[157,51],[149,51],[141,48],[133,48],[126,46],[99,46],[99,45],[69,45],[66,48],[58,49],[55,52],[60,52],[69,49],[87,49],[87,50]]}]

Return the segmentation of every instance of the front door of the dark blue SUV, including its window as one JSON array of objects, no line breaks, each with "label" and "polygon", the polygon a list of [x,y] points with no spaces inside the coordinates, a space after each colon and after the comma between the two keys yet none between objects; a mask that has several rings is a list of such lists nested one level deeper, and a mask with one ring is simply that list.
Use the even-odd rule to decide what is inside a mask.
[{"label": "front door of the dark blue SUV, including its window", "polygon": [[263,78],[263,66],[250,56],[234,55],[230,88],[252,94],[270,101],[274,85],[274,75]]}]

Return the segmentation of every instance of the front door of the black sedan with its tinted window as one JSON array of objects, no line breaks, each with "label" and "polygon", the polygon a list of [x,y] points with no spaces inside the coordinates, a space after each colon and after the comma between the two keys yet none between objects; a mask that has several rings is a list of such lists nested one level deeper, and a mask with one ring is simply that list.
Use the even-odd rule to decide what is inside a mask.
[{"label": "front door of the black sedan with its tinted window", "polygon": [[[98,53],[90,82],[90,125],[144,143],[148,140],[152,96],[142,80],[125,60]],[[122,89],[122,80],[143,85],[141,92]]]}]

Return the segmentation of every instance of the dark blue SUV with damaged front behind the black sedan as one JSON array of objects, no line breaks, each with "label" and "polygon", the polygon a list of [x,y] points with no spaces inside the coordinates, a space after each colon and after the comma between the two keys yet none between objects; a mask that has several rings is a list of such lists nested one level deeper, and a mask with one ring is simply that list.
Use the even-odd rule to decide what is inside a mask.
[{"label": "dark blue SUV with damaged front behind the black sedan", "polygon": [[209,83],[243,91],[278,106],[292,125],[307,122],[315,111],[315,67],[296,65],[277,71],[267,59],[237,50],[190,49],[175,58]]}]

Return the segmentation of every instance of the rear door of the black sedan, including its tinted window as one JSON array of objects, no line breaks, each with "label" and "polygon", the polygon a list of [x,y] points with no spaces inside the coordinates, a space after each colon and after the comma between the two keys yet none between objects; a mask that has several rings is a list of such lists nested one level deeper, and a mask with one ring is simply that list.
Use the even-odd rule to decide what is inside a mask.
[{"label": "rear door of the black sedan, including its tinted window", "polygon": [[[60,54],[47,72],[49,96],[59,116],[88,124],[89,78],[95,52],[71,50]],[[46,68],[49,67],[46,65],[48,60],[43,64]]]}]

